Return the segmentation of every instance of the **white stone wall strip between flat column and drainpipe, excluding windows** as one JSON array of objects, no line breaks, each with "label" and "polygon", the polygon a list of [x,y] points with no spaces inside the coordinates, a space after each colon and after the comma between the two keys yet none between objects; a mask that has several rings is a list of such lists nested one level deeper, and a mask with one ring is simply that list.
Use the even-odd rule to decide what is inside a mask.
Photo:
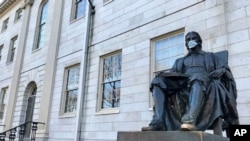
[{"label": "white stone wall strip between flat column and drainpipe, excluding windows", "polygon": [[[85,47],[85,22],[87,15],[77,20],[71,20],[72,1],[64,1],[62,10],[61,32],[59,39],[58,55],[56,59],[55,81],[53,87],[53,99],[49,122],[49,141],[72,141],[77,131],[77,114],[63,113],[63,95],[65,84],[65,69],[79,64],[81,65]],[[87,8],[86,8],[87,9]],[[82,71],[80,71],[82,72]],[[79,83],[79,87],[82,84]],[[79,90],[79,95],[81,94]],[[79,100],[78,100],[79,101]]]}]

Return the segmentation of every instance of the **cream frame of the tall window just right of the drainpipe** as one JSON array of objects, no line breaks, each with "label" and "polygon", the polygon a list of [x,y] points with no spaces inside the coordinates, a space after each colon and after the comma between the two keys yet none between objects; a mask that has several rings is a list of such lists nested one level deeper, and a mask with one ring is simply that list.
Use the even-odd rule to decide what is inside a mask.
[{"label": "cream frame of the tall window just right of the drainpipe", "polygon": [[[120,94],[120,97],[119,99],[121,98],[121,82],[122,82],[122,79],[121,79],[121,76],[122,76],[122,51],[121,50],[118,50],[118,51],[115,51],[115,52],[112,52],[112,53],[109,53],[109,54],[106,54],[106,55],[103,55],[100,57],[100,69],[99,69],[99,81],[98,81],[98,98],[97,98],[97,112],[96,112],[96,115],[101,115],[101,114],[116,114],[116,113],[119,113],[120,112],[120,100],[119,100],[119,106],[117,107],[110,107],[110,108],[103,108],[102,107],[102,102],[103,102],[103,91],[104,91],[104,88],[103,88],[103,84],[105,83],[104,80],[103,80],[103,75],[104,75],[104,60],[108,57],[111,57],[111,56],[116,56],[116,55],[120,55],[121,56],[121,60],[120,60],[120,65],[121,65],[121,72],[120,72],[120,78],[115,80],[115,81],[120,81],[120,87],[119,87],[119,94]],[[113,81],[113,80],[112,80]],[[110,82],[112,82],[110,81]]]}]

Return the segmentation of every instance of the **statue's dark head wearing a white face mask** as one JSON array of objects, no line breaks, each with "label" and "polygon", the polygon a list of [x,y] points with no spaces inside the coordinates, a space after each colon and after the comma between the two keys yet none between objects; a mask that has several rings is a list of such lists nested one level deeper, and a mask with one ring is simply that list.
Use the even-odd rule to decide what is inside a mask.
[{"label": "statue's dark head wearing a white face mask", "polygon": [[189,51],[201,49],[202,39],[199,33],[195,31],[188,32],[185,37],[185,45]]}]

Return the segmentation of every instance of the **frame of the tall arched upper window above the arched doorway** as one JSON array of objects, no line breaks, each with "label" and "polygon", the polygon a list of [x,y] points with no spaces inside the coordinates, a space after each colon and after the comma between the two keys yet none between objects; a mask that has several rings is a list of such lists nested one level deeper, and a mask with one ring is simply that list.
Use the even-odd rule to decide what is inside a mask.
[{"label": "frame of the tall arched upper window above the arched doorway", "polygon": [[[45,11],[45,13],[43,13]],[[45,14],[45,21],[42,21],[43,14]],[[42,34],[42,32],[46,33],[46,23],[47,23],[47,16],[48,16],[48,1],[44,1],[39,8],[39,14],[37,19],[37,26],[36,26],[36,34],[35,34],[35,41],[33,46],[33,51],[41,49],[44,46],[45,42],[45,34]],[[42,30],[43,29],[43,30]],[[42,36],[43,35],[43,36]],[[40,40],[43,38],[43,42],[41,43]]]}]

